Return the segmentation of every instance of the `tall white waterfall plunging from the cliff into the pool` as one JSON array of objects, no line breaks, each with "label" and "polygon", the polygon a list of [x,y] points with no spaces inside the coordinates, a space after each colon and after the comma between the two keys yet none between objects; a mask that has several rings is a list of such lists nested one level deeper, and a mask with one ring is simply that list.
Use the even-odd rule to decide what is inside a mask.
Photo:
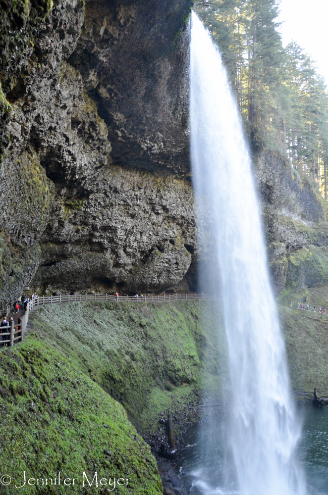
[{"label": "tall white waterfall plunging from the cliff into the pool", "polygon": [[219,52],[194,13],[190,119],[196,204],[199,216],[205,208],[211,216],[207,239],[219,265],[231,387],[227,436],[237,493],[304,494],[294,455],[300,426],[290,399],[251,159]]}]

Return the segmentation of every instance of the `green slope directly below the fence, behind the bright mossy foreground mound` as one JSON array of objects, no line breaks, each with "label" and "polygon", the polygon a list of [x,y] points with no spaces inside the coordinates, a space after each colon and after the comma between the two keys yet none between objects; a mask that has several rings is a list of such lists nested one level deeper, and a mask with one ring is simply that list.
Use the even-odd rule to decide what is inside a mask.
[{"label": "green slope directly below the fence, behind the bright mossy foreground mound", "polygon": [[168,408],[188,421],[187,406],[200,402],[204,389],[221,393],[225,338],[212,301],[54,304],[32,321],[38,338],[119,400],[138,428],[157,430]]}]

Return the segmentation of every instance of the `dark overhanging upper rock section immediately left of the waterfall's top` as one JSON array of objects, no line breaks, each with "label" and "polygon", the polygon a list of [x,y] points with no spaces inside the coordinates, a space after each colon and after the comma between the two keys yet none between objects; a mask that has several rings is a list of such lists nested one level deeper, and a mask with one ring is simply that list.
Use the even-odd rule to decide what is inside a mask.
[{"label": "dark overhanging upper rock section immediately left of the waterfall's top", "polygon": [[97,102],[115,163],[189,175],[186,98],[193,0],[86,2],[69,63]]}]

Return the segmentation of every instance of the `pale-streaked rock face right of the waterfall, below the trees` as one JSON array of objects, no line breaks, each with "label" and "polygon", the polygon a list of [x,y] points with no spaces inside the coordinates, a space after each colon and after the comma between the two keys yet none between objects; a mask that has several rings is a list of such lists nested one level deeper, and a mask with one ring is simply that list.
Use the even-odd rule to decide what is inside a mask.
[{"label": "pale-streaked rock face right of the waterfall, below the trees", "polygon": [[286,280],[293,278],[289,273],[293,272],[293,253],[306,246],[328,244],[328,203],[307,177],[301,179],[289,163],[270,153],[255,158],[254,172],[273,285],[278,294]]}]

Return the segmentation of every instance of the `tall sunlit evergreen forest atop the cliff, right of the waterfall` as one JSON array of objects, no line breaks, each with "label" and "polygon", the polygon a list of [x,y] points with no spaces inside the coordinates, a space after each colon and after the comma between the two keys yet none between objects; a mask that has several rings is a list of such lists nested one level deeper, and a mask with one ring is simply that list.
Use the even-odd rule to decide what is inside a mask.
[{"label": "tall sunlit evergreen forest atop the cliff, right of the waterfall", "polygon": [[328,94],[315,61],[297,43],[283,48],[278,0],[198,0],[219,46],[255,151],[288,157],[327,199]]}]

